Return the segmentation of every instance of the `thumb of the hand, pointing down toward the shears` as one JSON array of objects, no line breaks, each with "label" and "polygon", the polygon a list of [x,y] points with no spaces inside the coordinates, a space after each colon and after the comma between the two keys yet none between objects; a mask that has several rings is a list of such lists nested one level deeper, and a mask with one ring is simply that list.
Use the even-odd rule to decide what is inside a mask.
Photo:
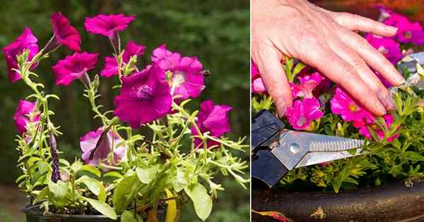
[{"label": "thumb of the hand, pointing down toward the shears", "polygon": [[262,47],[257,54],[252,54],[257,64],[266,91],[276,104],[278,116],[284,116],[285,109],[292,106],[292,93],[285,77],[278,49]]}]

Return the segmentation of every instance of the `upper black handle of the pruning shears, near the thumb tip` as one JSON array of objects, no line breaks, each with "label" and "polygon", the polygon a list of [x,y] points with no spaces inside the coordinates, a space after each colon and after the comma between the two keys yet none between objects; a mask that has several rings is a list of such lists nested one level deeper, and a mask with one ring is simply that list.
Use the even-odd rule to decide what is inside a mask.
[{"label": "upper black handle of the pruning shears, near the thumb tip", "polygon": [[259,111],[252,118],[252,151],[255,151],[271,137],[276,136],[283,128],[284,123],[273,113],[265,109]]}]

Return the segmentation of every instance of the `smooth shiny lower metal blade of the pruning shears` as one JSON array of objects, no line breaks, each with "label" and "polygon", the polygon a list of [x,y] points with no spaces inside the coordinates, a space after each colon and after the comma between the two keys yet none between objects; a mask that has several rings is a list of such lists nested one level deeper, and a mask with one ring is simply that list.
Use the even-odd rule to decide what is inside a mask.
[{"label": "smooth shiny lower metal blade of the pruning shears", "polygon": [[295,166],[295,168],[310,166],[314,164],[322,164],[329,161],[335,161],[338,159],[346,159],[352,156],[358,156],[366,154],[366,152],[362,152],[362,149],[356,149],[355,154],[350,154],[347,151],[341,152],[310,152],[307,153],[303,159],[299,161],[299,163]]}]

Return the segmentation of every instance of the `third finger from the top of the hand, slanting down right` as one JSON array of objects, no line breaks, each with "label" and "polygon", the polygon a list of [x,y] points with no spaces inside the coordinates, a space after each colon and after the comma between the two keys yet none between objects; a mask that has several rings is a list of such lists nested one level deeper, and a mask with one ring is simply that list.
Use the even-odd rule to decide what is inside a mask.
[{"label": "third finger from the top of the hand, slanting down right", "polygon": [[[331,47],[331,46],[330,46]],[[387,110],[393,110],[396,108],[393,99],[390,96],[389,90],[382,84],[377,76],[370,70],[367,63],[363,61],[363,58],[356,53],[355,50],[346,46],[338,39],[332,41],[332,48],[344,61],[348,62],[356,73],[365,82],[368,87],[377,95],[379,101],[384,105]]]}]

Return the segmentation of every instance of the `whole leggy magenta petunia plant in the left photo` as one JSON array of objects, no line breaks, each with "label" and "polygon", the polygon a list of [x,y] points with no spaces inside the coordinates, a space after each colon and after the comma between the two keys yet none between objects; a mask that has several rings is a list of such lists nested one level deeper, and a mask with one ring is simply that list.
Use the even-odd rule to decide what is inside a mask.
[{"label": "whole leggy magenta petunia plant in the left photo", "polygon": [[[99,55],[81,51],[81,37],[68,18],[53,13],[52,39],[39,49],[29,27],[3,48],[11,82],[23,81],[33,94],[19,101],[13,116],[19,135],[16,182],[39,204],[44,214],[102,214],[121,221],[176,221],[179,206],[191,201],[196,214],[206,220],[224,187],[218,174],[230,176],[245,189],[246,161],[234,156],[244,152],[245,137],[230,140],[232,107],[202,101],[200,109],[186,105],[205,89],[206,70],[196,57],[181,56],[165,45],[154,49],[150,63],[139,68],[137,58],[146,47],[129,41],[122,47],[122,32],[135,16],[99,15],[86,18],[86,30],[109,39],[113,54],[104,58],[100,75],[93,73]],[[100,125],[80,138],[81,160],[60,159],[61,132],[49,106],[59,97],[50,94],[35,68],[59,47],[73,54],[52,66],[56,85],[81,84],[93,118]],[[101,78],[114,78],[119,91],[114,109],[97,103]],[[148,132],[140,134],[140,130]],[[76,138],[77,139],[77,138]],[[233,152],[234,151],[234,152]]]}]

